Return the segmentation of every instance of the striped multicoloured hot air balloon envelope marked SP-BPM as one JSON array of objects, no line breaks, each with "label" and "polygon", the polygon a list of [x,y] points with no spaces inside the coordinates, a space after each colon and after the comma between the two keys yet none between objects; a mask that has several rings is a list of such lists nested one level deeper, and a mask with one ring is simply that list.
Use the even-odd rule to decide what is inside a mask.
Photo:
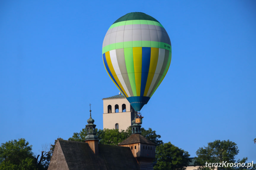
[{"label": "striped multicoloured hot air balloon envelope marked SP-BPM", "polygon": [[171,41],[155,18],[131,12],[107,31],[102,57],[117,88],[135,111],[147,104],[171,63]]}]

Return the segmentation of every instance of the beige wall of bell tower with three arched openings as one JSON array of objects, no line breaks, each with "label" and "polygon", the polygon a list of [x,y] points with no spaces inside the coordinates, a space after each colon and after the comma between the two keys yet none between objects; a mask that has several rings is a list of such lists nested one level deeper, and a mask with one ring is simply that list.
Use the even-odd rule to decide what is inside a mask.
[{"label": "beige wall of bell tower with three arched openings", "polygon": [[[115,113],[115,105],[118,105],[119,112]],[[122,105],[125,104],[126,112],[122,112]],[[111,105],[112,113],[108,113],[108,106]],[[103,128],[115,129],[119,124],[119,130],[126,130],[131,126],[131,105],[126,98],[103,99]]]}]

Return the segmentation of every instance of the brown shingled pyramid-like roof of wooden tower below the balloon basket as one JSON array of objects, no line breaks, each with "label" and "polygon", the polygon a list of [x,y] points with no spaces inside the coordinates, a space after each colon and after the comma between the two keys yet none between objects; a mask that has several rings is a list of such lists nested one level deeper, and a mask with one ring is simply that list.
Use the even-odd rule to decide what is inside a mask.
[{"label": "brown shingled pyramid-like roof of wooden tower below the balloon basket", "polygon": [[119,143],[118,145],[128,145],[128,144],[134,144],[134,143],[145,143],[145,144],[155,145],[155,143],[146,139],[141,134],[132,134],[131,136],[129,136],[127,139],[125,139],[123,142]]}]

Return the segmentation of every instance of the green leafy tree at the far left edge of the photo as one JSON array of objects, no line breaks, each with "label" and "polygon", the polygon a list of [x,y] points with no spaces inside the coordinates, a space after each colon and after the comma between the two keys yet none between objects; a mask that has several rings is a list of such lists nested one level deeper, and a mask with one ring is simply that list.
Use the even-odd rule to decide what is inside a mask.
[{"label": "green leafy tree at the far left edge of the photo", "polygon": [[32,153],[32,145],[25,139],[11,140],[0,146],[0,169],[34,170],[36,160]]}]

